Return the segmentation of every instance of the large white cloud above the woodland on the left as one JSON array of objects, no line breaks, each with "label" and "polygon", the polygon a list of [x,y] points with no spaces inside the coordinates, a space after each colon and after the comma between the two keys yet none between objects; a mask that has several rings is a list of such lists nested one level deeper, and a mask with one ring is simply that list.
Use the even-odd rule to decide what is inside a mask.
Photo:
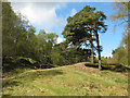
[{"label": "large white cloud above the woodland on the left", "polygon": [[56,9],[65,7],[65,3],[16,3],[13,2],[12,7],[15,12],[21,12],[32,25],[39,28],[51,29],[58,25],[65,24],[62,16],[56,15]]}]

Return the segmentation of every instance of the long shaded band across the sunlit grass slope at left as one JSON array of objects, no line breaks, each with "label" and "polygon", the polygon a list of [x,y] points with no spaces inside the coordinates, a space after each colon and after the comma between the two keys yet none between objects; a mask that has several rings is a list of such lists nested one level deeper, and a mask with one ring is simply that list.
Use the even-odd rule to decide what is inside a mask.
[{"label": "long shaded band across the sunlit grass slope at left", "polygon": [[22,76],[17,76],[15,78],[3,79],[2,86],[3,88],[10,87],[10,90],[13,90],[11,87],[18,86],[27,82],[32,82],[36,78],[44,78],[44,77],[48,78],[48,77],[52,77],[55,75],[62,75],[62,74],[64,73],[61,70],[51,70],[51,71],[36,70],[32,72],[27,72],[23,74]]}]

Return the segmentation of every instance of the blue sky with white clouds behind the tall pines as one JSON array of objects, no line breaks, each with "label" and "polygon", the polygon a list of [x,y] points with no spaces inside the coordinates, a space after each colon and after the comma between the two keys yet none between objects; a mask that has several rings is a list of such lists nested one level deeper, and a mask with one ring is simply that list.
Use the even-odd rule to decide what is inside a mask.
[{"label": "blue sky with white clouds behind the tall pines", "polygon": [[[21,12],[36,27],[36,34],[40,29],[56,33],[58,44],[65,40],[62,32],[67,24],[66,19],[75,15],[83,7],[94,7],[95,11],[103,11],[106,16],[115,12],[113,2],[12,2],[11,5],[16,13]],[[105,34],[100,34],[100,45],[103,46],[102,57],[112,57],[112,51],[119,47],[125,28],[119,25],[114,32],[114,25],[117,23],[119,21],[110,22],[108,19],[105,21],[108,28]]]}]

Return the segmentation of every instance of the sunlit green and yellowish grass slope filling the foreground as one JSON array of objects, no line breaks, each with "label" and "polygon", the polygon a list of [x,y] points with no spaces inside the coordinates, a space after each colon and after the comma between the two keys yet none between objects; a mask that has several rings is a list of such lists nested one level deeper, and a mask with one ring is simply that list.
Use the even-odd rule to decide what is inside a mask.
[{"label": "sunlit green and yellowish grass slope filling the foreground", "polygon": [[127,73],[67,65],[8,74],[3,96],[128,96]]}]

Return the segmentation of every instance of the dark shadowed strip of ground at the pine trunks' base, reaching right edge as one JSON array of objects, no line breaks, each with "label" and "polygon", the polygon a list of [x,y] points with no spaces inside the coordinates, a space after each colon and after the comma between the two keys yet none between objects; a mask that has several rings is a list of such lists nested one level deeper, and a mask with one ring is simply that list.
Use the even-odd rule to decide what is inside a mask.
[{"label": "dark shadowed strip of ground at the pine trunks' base, reaching right edge", "polygon": [[[86,66],[89,66],[89,68],[94,68],[94,69],[99,69],[99,65],[98,64],[91,64],[91,63],[87,63],[84,64]],[[122,65],[102,65],[102,70],[109,70],[109,71],[113,71],[113,72],[127,72],[127,71],[130,71],[129,68],[126,68],[126,66],[122,66]]]}]

